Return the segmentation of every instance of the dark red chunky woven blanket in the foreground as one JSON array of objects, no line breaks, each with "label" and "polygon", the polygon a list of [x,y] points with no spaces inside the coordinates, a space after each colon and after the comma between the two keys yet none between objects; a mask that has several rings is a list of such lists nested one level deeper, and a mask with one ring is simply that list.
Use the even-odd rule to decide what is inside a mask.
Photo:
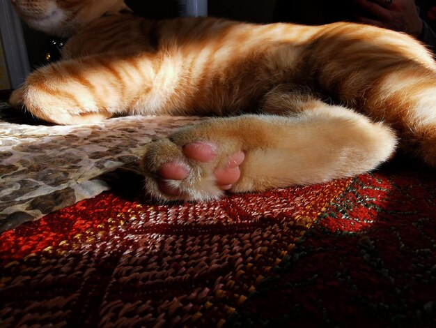
[{"label": "dark red chunky woven blanket in the foreground", "polygon": [[156,206],[127,174],[0,235],[0,326],[435,327],[433,175]]}]

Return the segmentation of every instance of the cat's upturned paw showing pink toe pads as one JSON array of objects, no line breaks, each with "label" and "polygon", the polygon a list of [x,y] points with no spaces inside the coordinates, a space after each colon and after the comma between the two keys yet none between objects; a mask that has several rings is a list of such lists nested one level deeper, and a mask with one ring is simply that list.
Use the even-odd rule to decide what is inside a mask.
[{"label": "cat's upturned paw showing pink toe pads", "polygon": [[238,181],[243,161],[244,152],[217,142],[159,140],[143,157],[146,191],[159,200],[217,199]]}]

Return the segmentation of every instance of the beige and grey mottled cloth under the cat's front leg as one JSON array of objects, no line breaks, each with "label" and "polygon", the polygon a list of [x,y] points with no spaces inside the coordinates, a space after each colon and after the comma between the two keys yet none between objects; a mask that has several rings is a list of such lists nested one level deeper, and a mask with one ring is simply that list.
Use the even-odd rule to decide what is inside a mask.
[{"label": "beige and grey mottled cloth under the cat's front leg", "polygon": [[0,101],[0,232],[106,191],[104,174],[137,168],[145,144],[195,121],[130,116],[48,126]]}]

